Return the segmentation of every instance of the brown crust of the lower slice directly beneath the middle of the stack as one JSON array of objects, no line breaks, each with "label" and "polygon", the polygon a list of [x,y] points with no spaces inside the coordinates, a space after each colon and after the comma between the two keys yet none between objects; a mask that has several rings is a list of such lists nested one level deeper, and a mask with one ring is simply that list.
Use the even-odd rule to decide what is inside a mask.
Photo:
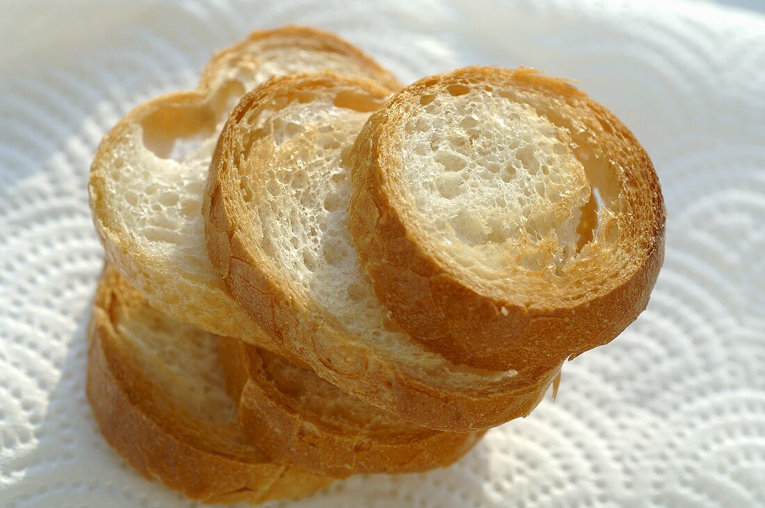
[{"label": "brown crust of the lower slice directly beneath the middle of the stack", "polygon": [[239,419],[253,445],[317,474],[343,478],[443,468],[466,454],[483,435],[483,431],[430,429],[406,435],[350,434],[324,419],[307,419],[283,403],[283,395],[275,396],[257,348],[221,338],[220,351],[229,393],[239,395]]}]

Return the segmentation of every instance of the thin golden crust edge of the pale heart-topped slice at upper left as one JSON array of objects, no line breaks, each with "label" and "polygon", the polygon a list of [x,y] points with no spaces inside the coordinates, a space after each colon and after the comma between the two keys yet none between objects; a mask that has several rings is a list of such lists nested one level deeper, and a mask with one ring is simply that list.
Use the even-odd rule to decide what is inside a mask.
[{"label": "thin golden crust edge of the pale heart-topped slice at upper left", "polygon": [[[197,123],[213,121],[220,114],[220,104],[210,100],[214,89],[223,86],[227,70],[243,65],[256,69],[258,55],[248,50],[249,44],[262,47],[286,49],[314,49],[335,53],[356,63],[360,70],[372,79],[394,89],[400,84],[389,71],[382,69],[371,57],[353,44],[326,31],[306,27],[285,27],[269,31],[256,31],[232,47],[216,53],[202,72],[196,90],[171,92],[138,105],[125,115],[99,144],[90,170],[90,208],[93,223],[101,240],[106,257],[129,282],[148,299],[152,306],[182,322],[190,322],[216,335],[241,338],[254,345],[288,354],[279,350],[268,335],[262,332],[239,309],[222,281],[198,280],[187,273],[183,264],[171,265],[156,260],[151,252],[141,248],[140,241],[131,231],[125,231],[122,219],[116,212],[117,205],[109,202],[106,179],[111,178],[106,168],[120,146],[129,144],[129,135],[136,125],[153,116],[161,118],[173,111],[187,111]],[[153,115],[153,116],[152,116]],[[164,120],[174,128],[180,121]]]}]

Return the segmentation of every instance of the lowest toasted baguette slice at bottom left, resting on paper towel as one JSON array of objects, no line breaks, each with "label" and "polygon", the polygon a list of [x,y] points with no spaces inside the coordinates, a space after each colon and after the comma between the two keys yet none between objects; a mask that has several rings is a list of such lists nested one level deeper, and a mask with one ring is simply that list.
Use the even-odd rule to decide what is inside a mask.
[{"label": "lowest toasted baguette slice at bottom left, resting on paper towel", "polygon": [[147,478],[205,503],[298,497],[330,479],[247,442],[214,335],[155,311],[107,268],[89,328],[87,396],[109,445]]}]

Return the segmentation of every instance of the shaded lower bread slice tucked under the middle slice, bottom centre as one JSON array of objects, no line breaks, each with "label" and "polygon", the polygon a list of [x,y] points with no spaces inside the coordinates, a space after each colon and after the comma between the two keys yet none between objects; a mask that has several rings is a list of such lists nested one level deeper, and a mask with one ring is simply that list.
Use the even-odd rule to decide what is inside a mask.
[{"label": "shaded lower bread slice tucked under the middle slice, bottom centre", "polygon": [[405,422],[300,367],[234,338],[221,338],[229,393],[253,444],[272,457],[332,477],[441,468],[483,432],[438,432]]}]

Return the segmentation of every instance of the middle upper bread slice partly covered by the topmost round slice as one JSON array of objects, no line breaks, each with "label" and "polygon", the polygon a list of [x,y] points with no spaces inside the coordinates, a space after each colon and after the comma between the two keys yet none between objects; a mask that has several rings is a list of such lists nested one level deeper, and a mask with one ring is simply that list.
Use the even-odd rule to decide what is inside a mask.
[{"label": "middle upper bread slice partly covered by the topmost round slice", "polygon": [[282,76],[245,95],[210,164],[210,260],[269,335],[367,403],[457,432],[526,415],[558,365],[519,378],[447,361],[399,331],[360,270],[350,149],[388,95],[337,73]]}]

